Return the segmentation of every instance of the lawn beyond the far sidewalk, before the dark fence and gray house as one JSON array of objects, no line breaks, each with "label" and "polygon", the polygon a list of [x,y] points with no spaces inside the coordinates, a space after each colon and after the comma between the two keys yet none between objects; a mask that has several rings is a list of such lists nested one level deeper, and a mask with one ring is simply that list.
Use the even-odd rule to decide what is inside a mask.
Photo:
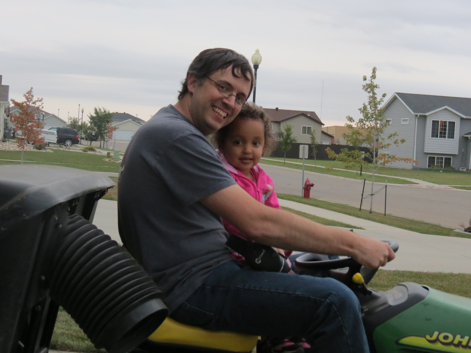
[{"label": "lawn beyond the far sidewalk, before the dark fence and gray house", "polygon": [[[283,158],[277,158],[277,157],[267,157],[267,158],[283,161]],[[302,159],[299,159],[299,158],[286,158],[286,160],[290,162],[302,163]],[[261,160],[260,163],[269,164],[268,160]],[[304,163],[314,165],[316,161],[309,159],[309,160],[304,160]],[[317,165],[324,166],[324,167],[345,169],[345,165],[342,162],[337,162],[335,160],[317,160]],[[290,166],[290,163],[285,164],[284,167],[292,168]],[[317,168],[317,169],[323,169],[323,168]],[[358,168],[358,171],[359,171],[359,168]],[[363,167],[363,171],[371,172],[369,168],[367,167]],[[318,173],[321,173],[321,172],[318,172]],[[352,173],[352,172],[347,172],[347,173],[356,175],[356,173]],[[440,184],[440,185],[471,185],[471,174],[468,172],[460,172],[456,170],[455,171],[454,170],[440,171],[438,169],[427,169],[427,170],[414,169],[413,170],[413,169],[380,167],[376,171],[376,173],[383,174],[383,175],[390,175],[390,176],[402,176],[405,178],[419,179],[419,180],[424,180],[430,183]],[[358,172],[358,175],[359,175],[359,172]],[[347,176],[347,177],[352,177],[352,176]],[[352,177],[352,178],[357,179],[357,177]],[[389,178],[387,179],[389,183],[390,179]],[[366,180],[369,180],[369,179],[366,179]],[[376,176],[374,177],[374,180],[376,181]],[[391,183],[393,182],[391,181]],[[394,183],[396,182],[394,181]],[[411,183],[407,182],[406,184],[411,184]]]}]

